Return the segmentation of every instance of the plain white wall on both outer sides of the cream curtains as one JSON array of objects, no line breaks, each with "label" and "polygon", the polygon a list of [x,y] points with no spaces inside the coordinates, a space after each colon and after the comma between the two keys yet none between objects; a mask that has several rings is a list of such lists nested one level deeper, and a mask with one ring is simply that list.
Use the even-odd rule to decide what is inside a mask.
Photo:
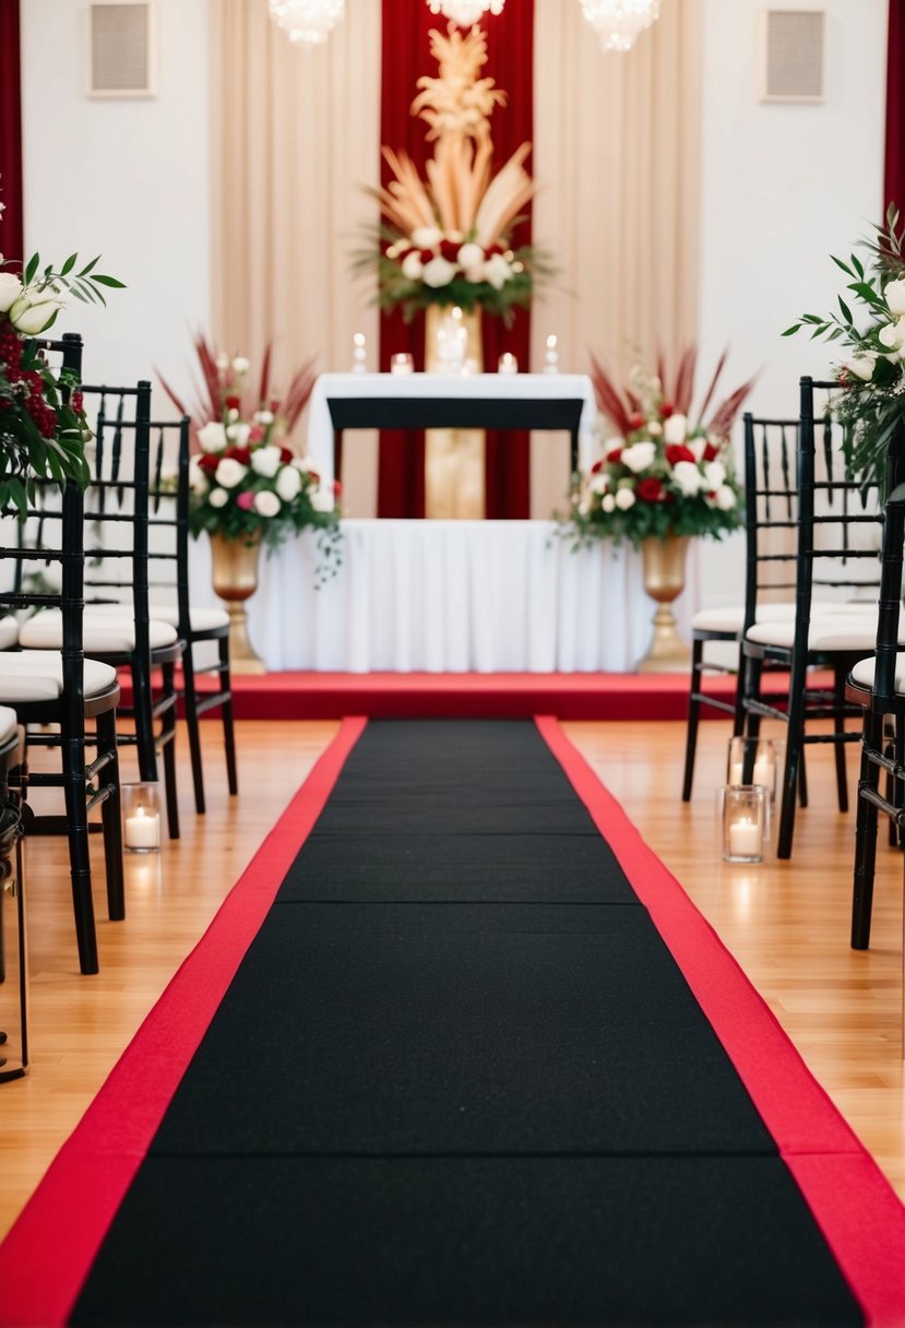
[{"label": "plain white wall on both outer sides of the cream curtains", "polygon": [[[102,252],[129,286],[106,311],[69,309],[57,324],[85,335],[89,380],[161,369],[184,385],[191,333],[211,325],[207,3],[157,0],[150,101],[85,96],[88,0],[21,5],[27,247],[58,260]],[[831,308],[840,283],[828,255],[884,207],[886,0],[820,7],[825,101],[766,105],[766,0],[705,0],[701,365],[729,344],[726,386],[760,371],[750,406],[763,414],[795,414],[799,374],[827,373],[824,345],[780,332],[805,309]],[[701,558],[703,602],[736,599],[740,538],[709,548],[718,555]]]}]

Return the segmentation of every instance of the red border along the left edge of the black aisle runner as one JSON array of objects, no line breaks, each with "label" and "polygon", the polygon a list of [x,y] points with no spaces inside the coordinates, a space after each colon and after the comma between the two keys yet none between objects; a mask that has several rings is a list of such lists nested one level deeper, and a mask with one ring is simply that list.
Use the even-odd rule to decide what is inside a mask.
[{"label": "red border along the left edge of the black aisle runner", "polygon": [[344,720],[0,1244],[0,1324],[64,1324],[188,1061],[368,721]]}]

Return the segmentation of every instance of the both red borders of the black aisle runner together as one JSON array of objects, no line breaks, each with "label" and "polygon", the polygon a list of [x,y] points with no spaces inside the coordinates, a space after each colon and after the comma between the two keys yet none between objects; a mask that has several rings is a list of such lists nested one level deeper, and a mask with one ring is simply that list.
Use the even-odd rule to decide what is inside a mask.
[{"label": "both red borders of the black aisle runner together", "polygon": [[[184,1068],[365,722],[342,722],[0,1246],[0,1325],[65,1323]],[[901,1328],[905,1208],[717,934],[557,720],[536,722],[734,1061],[868,1323]]]}]

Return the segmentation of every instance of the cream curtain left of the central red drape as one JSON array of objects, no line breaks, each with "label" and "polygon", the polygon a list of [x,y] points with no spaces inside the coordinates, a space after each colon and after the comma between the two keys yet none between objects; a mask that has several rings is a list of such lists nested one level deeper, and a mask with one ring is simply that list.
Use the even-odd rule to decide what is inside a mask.
[{"label": "cream curtain left of the central red drape", "polygon": [[[376,369],[374,288],[350,267],[377,224],[364,186],[380,173],[380,0],[348,0],[316,49],[293,46],[267,0],[210,0],[210,24],[212,335],[252,364],[273,340],[285,381],[311,356],[349,369],[364,332]],[[374,436],[350,436],[344,478],[346,510],[373,511]]]}]

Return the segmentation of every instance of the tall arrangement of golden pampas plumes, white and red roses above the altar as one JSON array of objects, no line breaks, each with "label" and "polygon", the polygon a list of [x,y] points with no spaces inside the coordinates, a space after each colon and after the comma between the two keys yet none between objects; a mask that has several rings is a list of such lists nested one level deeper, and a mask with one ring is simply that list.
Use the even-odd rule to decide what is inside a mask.
[{"label": "tall arrangement of golden pampas plumes, white and red roses above the altar", "polygon": [[406,153],[383,147],[393,179],[376,197],[383,218],[376,243],[357,260],[377,268],[378,303],[401,307],[406,321],[429,304],[478,305],[511,316],[531,300],[536,279],[549,270],[531,247],[512,247],[510,234],[533,194],[524,170],[531,143],[522,146],[491,177],[490,114],[506,97],[492,78],[479,78],[487,61],[487,36],[472,28],[463,36],[433,31],[431,54],[439,78],[419,78],[411,104],[435,139],[422,181]]}]

